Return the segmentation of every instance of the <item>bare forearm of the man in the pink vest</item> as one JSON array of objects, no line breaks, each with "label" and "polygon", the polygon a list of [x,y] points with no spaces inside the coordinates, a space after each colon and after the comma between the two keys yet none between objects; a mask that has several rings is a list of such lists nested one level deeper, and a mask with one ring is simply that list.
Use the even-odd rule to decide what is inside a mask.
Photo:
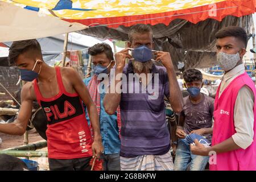
[{"label": "bare forearm of the man in the pink vest", "polygon": [[215,146],[209,147],[207,148],[207,155],[209,155],[210,151],[215,151],[217,154],[223,153],[223,152],[229,152],[229,151],[233,151],[233,150],[238,150],[241,147],[238,146],[232,137],[230,137],[229,139],[224,140],[223,142],[216,144]]}]

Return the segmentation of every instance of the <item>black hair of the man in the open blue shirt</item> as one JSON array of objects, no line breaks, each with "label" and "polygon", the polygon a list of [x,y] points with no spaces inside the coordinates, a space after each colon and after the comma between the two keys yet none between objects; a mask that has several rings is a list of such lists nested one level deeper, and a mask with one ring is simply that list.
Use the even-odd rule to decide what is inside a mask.
[{"label": "black hair of the man in the open blue shirt", "polygon": [[112,48],[109,46],[109,44],[98,43],[88,49],[88,53],[91,56],[96,56],[102,52],[105,53],[110,61],[114,60]]}]

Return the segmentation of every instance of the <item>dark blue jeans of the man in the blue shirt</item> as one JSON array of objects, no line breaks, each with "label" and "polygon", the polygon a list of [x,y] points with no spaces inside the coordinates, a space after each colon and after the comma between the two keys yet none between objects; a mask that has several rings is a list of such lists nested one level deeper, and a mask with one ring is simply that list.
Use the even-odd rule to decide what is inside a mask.
[{"label": "dark blue jeans of the man in the blue shirt", "polygon": [[117,154],[101,154],[103,160],[104,171],[120,171],[120,155]]}]

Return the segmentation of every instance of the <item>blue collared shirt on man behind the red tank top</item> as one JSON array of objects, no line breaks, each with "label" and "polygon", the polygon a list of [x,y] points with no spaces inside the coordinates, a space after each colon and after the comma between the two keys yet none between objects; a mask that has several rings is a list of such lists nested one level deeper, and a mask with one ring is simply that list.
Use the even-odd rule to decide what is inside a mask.
[{"label": "blue collared shirt on man behind the red tank top", "polygon": [[[84,83],[87,86],[90,82],[89,78],[84,79]],[[102,89],[104,89],[104,85],[102,85]],[[106,113],[103,101],[104,101],[105,93],[100,93],[101,98],[101,111],[100,111],[100,130],[102,137],[102,145],[104,146],[104,154],[117,154],[120,152],[120,139],[119,132],[117,126],[117,113],[113,115],[109,115]],[[88,111],[86,111],[86,119],[90,122],[90,118],[88,116]]]}]

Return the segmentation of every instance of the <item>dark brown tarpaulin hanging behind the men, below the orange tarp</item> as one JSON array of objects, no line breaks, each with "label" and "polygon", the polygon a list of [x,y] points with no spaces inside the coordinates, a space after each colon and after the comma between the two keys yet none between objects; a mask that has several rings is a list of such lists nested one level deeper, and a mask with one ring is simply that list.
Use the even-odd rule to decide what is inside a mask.
[{"label": "dark brown tarpaulin hanging behind the men, below the orange tarp", "polygon": [[[186,68],[208,68],[216,65],[215,34],[228,26],[240,26],[250,33],[252,15],[242,17],[226,16],[221,22],[206,19],[193,24],[184,19],[175,19],[168,26],[165,24],[150,25],[154,35],[155,49],[171,53],[172,61],[177,69],[179,63]],[[102,39],[128,41],[130,27],[106,26],[89,27],[78,31],[80,34]]]}]

